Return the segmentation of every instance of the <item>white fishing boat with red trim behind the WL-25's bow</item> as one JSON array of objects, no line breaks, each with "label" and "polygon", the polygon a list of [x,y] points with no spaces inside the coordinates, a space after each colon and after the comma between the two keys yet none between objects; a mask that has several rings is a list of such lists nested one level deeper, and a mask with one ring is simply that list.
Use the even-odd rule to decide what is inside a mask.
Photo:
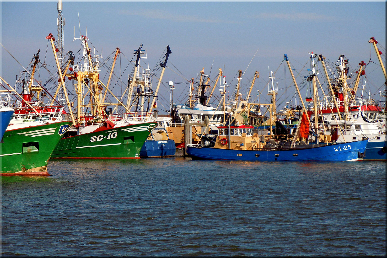
[{"label": "white fishing boat with red trim behind the WL-25's bow", "polygon": [[[324,60],[325,57],[319,55],[325,77],[329,78]],[[363,99],[365,85],[361,89],[361,98],[356,99],[356,92],[359,89],[360,76],[364,74],[363,67],[365,63],[362,61],[359,66],[359,70],[354,73],[357,74],[354,78],[354,84],[348,85],[347,81],[350,78],[348,74],[349,60],[345,55],[339,56],[335,64],[337,74],[327,80],[330,99],[325,96],[325,102],[319,103],[319,113],[322,114],[322,119],[327,123],[332,140],[345,142],[366,137],[369,140],[364,160],[387,160],[387,131],[386,128],[378,125],[378,121],[375,119],[377,114],[381,112],[380,107],[370,99]],[[313,116],[311,114],[311,119]],[[337,137],[339,130],[329,129],[329,124],[339,126],[341,137]]]}]

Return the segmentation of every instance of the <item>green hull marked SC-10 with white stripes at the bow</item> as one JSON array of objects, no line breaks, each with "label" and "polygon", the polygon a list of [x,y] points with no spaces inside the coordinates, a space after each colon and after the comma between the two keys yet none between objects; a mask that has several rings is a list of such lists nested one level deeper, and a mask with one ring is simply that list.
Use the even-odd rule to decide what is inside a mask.
[{"label": "green hull marked SC-10 with white stripes at the bow", "polygon": [[52,159],[140,159],[140,149],[156,123],[120,126],[62,138]]}]

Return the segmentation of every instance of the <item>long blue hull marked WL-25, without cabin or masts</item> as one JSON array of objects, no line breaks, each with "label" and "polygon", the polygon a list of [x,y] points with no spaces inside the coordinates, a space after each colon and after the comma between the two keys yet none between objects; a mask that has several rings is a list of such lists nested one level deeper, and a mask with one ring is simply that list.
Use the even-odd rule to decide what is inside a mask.
[{"label": "long blue hull marked WL-25, without cabin or masts", "polygon": [[292,150],[230,150],[188,146],[187,153],[199,159],[239,161],[361,161],[368,140]]}]

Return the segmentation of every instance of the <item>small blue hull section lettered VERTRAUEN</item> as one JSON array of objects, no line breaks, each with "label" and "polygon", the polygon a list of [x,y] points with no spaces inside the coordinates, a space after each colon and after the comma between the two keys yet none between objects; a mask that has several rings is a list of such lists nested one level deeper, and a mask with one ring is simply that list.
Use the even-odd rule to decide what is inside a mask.
[{"label": "small blue hull section lettered VERTRAUEN", "polygon": [[174,140],[146,140],[140,150],[142,158],[162,158],[175,156],[176,146]]}]

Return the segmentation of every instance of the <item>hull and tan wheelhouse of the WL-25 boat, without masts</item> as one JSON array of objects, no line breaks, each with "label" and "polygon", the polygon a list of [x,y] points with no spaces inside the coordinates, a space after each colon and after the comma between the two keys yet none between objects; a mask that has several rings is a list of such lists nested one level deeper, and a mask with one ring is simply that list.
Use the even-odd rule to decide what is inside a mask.
[{"label": "hull and tan wheelhouse of the WL-25 boat, without masts", "polygon": [[[342,144],[296,144],[258,136],[251,125],[219,126],[214,142],[188,145],[193,158],[238,161],[361,161],[368,139]],[[212,146],[211,146],[212,145]]]}]

